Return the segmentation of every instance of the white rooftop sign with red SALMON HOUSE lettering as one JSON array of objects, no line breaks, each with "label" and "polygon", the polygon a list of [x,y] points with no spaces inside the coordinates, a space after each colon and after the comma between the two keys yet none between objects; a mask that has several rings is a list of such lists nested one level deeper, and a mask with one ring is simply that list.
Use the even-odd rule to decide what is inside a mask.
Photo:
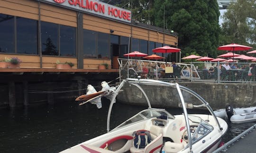
[{"label": "white rooftop sign with red SALMON HOUSE lettering", "polygon": [[[37,0],[38,1],[38,0]],[[112,18],[124,22],[131,22],[131,11],[97,0],[39,0],[55,4],[65,8],[72,8],[103,17]]]}]

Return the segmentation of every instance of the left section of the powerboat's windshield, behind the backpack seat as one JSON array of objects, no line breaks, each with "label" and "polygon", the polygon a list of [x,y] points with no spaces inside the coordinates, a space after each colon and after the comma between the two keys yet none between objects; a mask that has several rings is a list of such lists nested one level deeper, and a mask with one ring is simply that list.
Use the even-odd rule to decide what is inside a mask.
[{"label": "left section of the powerboat's windshield, behind the backpack seat", "polygon": [[142,110],[139,113],[137,113],[135,116],[131,117],[130,119],[126,120],[122,124],[120,124],[118,127],[114,128],[113,130],[119,128],[119,127],[124,127],[129,124],[133,124],[139,121],[143,121],[146,119],[150,118],[158,118],[158,119],[175,119],[173,115],[168,113],[164,109],[147,109],[147,110]]}]

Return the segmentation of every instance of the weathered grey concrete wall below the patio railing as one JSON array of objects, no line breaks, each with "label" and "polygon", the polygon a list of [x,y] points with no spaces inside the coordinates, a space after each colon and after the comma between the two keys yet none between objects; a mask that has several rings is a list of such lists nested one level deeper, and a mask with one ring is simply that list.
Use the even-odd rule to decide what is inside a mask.
[{"label": "weathered grey concrete wall below the patio railing", "polygon": [[[181,82],[179,83],[194,92],[198,93],[212,109],[223,109],[227,104],[234,107],[250,107],[256,106],[256,84],[216,84],[216,83],[198,83],[198,82]],[[181,102],[178,93],[169,87],[152,87],[150,85],[143,86],[149,95],[149,101],[152,106],[178,107]],[[124,87],[124,92],[119,93],[117,97],[120,102],[145,105],[146,100],[143,94],[132,87],[128,89]],[[197,103],[197,99],[190,93],[183,91],[185,102]],[[198,104],[200,104],[198,102]]]}]

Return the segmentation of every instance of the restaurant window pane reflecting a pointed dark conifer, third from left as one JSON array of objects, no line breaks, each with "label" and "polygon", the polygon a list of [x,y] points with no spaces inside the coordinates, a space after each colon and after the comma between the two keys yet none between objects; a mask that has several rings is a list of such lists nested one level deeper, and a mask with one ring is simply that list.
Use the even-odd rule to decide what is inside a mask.
[{"label": "restaurant window pane reflecting a pointed dark conifer, third from left", "polygon": [[57,24],[41,22],[41,40],[43,55],[59,55]]}]

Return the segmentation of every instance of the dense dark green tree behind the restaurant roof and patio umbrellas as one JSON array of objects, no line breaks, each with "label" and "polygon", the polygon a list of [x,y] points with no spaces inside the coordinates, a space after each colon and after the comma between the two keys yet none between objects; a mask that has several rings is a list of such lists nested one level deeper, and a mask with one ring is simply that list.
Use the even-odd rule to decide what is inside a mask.
[{"label": "dense dark green tree behind the restaurant roof and patio umbrellas", "polygon": [[217,56],[220,14],[216,0],[155,0],[154,10],[155,26],[164,27],[165,23],[165,29],[179,34],[182,56],[194,51]]}]

